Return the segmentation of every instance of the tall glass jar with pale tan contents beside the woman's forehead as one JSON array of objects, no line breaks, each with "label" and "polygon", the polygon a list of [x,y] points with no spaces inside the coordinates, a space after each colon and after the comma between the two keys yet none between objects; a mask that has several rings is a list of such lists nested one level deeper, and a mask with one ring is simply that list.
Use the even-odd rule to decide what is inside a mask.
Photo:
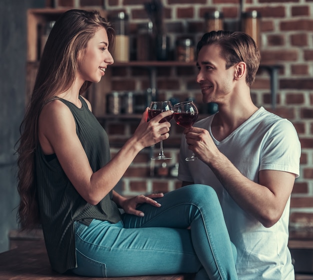
[{"label": "tall glass jar with pale tan contents beside the woman's forehead", "polygon": [[115,43],[112,56],[115,61],[129,61],[129,33],[128,33],[128,15],[123,11],[109,17],[115,30]]}]

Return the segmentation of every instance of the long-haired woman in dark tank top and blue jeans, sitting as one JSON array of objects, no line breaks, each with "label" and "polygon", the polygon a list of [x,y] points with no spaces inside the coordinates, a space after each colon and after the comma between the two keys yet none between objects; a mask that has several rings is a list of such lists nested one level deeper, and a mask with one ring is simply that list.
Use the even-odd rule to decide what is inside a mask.
[{"label": "long-haired woman in dark tank top and blue jeans, sitting", "polygon": [[107,134],[80,94],[113,63],[113,35],[98,12],[84,10],[65,12],[50,32],[21,124],[21,227],[42,225],[51,266],[61,273],[236,279],[236,251],[210,187],[130,199],[112,190],[143,147],[169,136],[170,123],[159,120],[172,113],[147,122],[146,109],[110,158]]}]

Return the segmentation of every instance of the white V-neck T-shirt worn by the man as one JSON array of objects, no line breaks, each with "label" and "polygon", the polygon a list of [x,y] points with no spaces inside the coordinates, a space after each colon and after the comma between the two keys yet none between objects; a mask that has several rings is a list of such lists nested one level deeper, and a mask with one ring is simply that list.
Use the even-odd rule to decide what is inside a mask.
[{"label": "white V-neck T-shirt worn by the man", "polygon": [[[211,133],[213,115],[194,126]],[[218,149],[247,178],[258,182],[258,171],[280,170],[299,175],[300,142],[292,123],[260,107],[249,119],[217,141]],[[287,248],[290,197],[280,219],[264,227],[229,196],[211,169],[191,155],[182,136],[178,179],[207,184],[217,192],[231,241],[237,248],[236,269],[240,280],[293,280],[294,270]],[[209,203],[209,201],[208,201]]]}]

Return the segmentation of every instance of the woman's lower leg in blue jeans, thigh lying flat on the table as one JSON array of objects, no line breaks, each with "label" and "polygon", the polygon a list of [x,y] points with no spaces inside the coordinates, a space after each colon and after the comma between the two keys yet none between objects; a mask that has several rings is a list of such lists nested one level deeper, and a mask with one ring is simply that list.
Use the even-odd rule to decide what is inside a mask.
[{"label": "woman's lower leg in blue jeans, thigh lying flat on the table", "polygon": [[[114,277],[195,273],[203,270],[191,242],[190,230],[165,227],[123,228],[93,220],[75,222],[77,268],[84,276]],[[206,272],[201,280],[207,279]]]}]

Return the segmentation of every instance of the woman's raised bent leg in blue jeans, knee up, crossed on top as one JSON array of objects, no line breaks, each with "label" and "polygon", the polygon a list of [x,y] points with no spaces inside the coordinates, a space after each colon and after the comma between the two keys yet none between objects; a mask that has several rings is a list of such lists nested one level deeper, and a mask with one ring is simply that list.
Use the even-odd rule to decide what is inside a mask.
[{"label": "woman's raised bent leg in blue jeans, knee up, crossed on top", "polygon": [[237,279],[236,250],[230,242],[216,192],[211,187],[184,186],[156,200],[161,207],[149,204],[139,207],[144,217],[124,214],[124,227],[190,226],[192,245],[209,279]]}]

